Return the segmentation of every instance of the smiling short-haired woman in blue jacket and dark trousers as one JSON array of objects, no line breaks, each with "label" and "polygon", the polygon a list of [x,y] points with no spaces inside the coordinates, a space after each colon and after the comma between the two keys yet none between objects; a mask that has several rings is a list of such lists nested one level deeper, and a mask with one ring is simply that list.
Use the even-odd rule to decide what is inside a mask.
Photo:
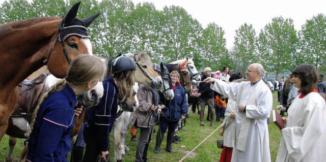
[{"label": "smiling short-haired woman in blue jacket and dark trousers", "polygon": [[185,119],[188,111],[186,93],[182,86],[180,86],[180,75],[177,71],[171,72],[171,82],[173,85],[174,98],[172,100],[166,100],[164,96],[160,96],[159,109],[162,113],[159,122],[159,129],[156,135],[156,144],[154,153],[160,153],[160,146],[165,132],[168,130],[166,151],[175,153],[172,149],[172,142],[174,138],[175,129],[178,126],[178,122],[181,119]]}]

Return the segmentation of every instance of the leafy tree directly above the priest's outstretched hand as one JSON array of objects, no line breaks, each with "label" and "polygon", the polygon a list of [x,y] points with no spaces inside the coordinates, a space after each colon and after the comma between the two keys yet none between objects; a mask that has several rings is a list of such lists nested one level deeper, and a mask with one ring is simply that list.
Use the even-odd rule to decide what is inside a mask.
[{"label": "leafy tree directly above the priest's outstretched hand", "polygon": [[[202,61],[204,67],[212,69],[222,69],[230,67],[231,61],[228,50],[226,49],[226,39],[224,38],[224,30],[215,23],[209,23],[203,29],[202,36]],[[230,68],[231,69],[231,68]]]}]

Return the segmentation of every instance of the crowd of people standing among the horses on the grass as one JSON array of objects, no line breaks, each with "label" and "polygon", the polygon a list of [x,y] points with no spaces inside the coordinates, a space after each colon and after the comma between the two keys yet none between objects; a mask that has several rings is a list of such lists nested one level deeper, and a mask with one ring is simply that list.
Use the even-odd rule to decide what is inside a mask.
[{"label": "crowd of people standing among the horses on the grass", "polygon": [[[84,158],[73,161],[108,161],[109,140],[112,125],[116,121],[118,102],[132,92],[135,62],[120,56],[112,64],[112,76],[103,81],[104,95],[99,104],[86,112],[83,137],[86,143]],[[154,71],[160,68],[153,63]],[[94,56],[80,55],[70,64],[68,76],[53,86],[43,97],[34,112],[33,131],[26,141],[22,158],[26,161],[68,161],[71,150],[70,133],[73,118],[80,112],[74,110],[75,94],[94,87],[105,71],[104,64]],[[251,64],[242,74],[230,74],[228,67],[222,72],[211,73],[206,67],[193,95],[199,98],[199,125],[204,125],[207,105],[210,126],[223,120],[220,136],[224,146],[220,161],[271,161],[267,118],[273,109],[273,96],[262,80],[264,68],[259,63]],[[81,77],[82,76],[82,77]],[[147,154],[154,125],[156,131],[155,154],[160,154],[161,143],[167,133],[165,151],[172,148],[179,121],[185,119],[188,104],[185,89],[180,85],[180,75],[172,71],[171,83],[174,98],[166,100],[157,89],[140,84],[137,92],[139,107],[132,118],[134,129],[140,129],[135,161],[148,161]],[[95,84],[96,83],[96,84]],[[281,141],[276,161],[322,161],[326,158],[326,106],[322,97],[326,91],[323,75],[313,66],[296,67],[285,80],[280,80],[279,102],[285,127],[281,129]],[[158,118],[158,116],[160,116]],[[158,119],[158,121],[156,121]],[[54,136],[56,135],[56,136]],[[55,137],[55,138],[53,138]],[[83,146],[84,149],[84,146]],[[82,150],[83,150],[82,149]],[[80,152],[80,151],[79,151]],[[83,157],[83,151],[81,153]]]}]

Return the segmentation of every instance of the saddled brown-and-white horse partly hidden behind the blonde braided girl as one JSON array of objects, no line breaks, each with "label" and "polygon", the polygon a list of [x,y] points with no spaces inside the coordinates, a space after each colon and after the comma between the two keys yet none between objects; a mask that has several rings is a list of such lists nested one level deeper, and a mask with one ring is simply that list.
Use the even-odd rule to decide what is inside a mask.
[{"label": "saddled brown-and-white horse partly hidden behind the blonde braided girl", "polygon": [[[17,142],[16,138],[28,138],[28,130],[31,129],[29,122],[39,97],[43,95],[43,93],[46,92],[51,86],[55,85],[59,80],[59,78],[56,78],[53,75],[47,76],[47,74],[43,74],[33,81],[25,80],[21,83],[25,85],[21,85],[21,95],[18,106],[9,118],[9,125],[6,132],[6,134],[10,136],[6,162],[12,161],[12,152]],[[30,92],[28,89],[31,89],[33,92]],[[26,95],[24,95],[24,93],[26,93]],[[77,99],[80,105],[84,106],[85,108],[89,108],[97,105],[102,96],[103,85],[102,82],[98,82],[97,85],[91,90],[78,94]],[[79,132],[81,124],[79,124],[79,126],[78,121],[76,123],[77,124],[74,124],[72,134]]]}]

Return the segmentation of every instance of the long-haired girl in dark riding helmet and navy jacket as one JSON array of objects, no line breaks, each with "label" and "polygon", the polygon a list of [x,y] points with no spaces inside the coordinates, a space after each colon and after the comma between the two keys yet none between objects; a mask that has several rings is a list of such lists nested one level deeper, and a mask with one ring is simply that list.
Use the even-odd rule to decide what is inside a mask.
[{"label": "long-haired girl in dark riding helmet and navy jacket", "polygon": [[118,102],[123,102],[128,93],[132,94],[136,69],[135,62],[127,56],[117,57],[111,62],[113,76],[103,81],[103,98],[97,106],[86,112],[84,128],[86,152],[83,161],[96,161],[98,155],[102,158],[107,157]]}]

